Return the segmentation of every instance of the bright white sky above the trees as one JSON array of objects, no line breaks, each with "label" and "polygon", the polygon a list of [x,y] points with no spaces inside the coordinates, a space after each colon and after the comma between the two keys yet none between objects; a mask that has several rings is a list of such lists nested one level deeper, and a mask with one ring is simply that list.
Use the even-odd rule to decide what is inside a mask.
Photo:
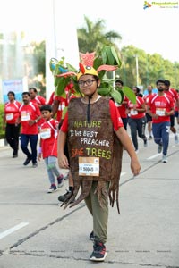
[{"label": "bright white sky above the trees", "polygon": [[179,62],[179,2],[159,6],[164,2],[149,1],[151,6],[144,9],[141,0],[0,0],[0,32],[24,30],[28,38],[45,38],[51,20],[49,4],[55,4],[57,28],[67,29],[68,36],[68,24],[81,28],[86,15],[93,22],[104,20],[106,32],[118,32],[122,36],[119,47],[133,45]]}]

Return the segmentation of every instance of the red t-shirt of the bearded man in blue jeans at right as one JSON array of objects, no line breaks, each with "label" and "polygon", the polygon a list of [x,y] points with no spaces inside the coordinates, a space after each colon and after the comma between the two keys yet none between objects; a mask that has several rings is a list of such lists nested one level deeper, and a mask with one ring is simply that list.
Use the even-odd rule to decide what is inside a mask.
[{"label": "red t-shirt of the bearded man in blue jeans at right", "polygon": [[158,114],[158,118],[152,118],[152,122],[160,123],[164,121],[170,121],[170,115],[166,116],[166,112],[170,112],[171,108],[174,108],[174,101],[170,96],[153,96],[149,99],[149,107],[151,113]]}]

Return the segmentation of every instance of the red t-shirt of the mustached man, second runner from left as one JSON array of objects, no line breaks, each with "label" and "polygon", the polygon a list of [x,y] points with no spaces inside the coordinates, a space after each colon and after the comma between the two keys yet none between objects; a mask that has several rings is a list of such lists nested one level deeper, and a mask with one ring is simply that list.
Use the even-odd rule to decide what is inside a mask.
[{"label": "red t-shirt of the mustached man, second runner from left", "polygon": [[31,126],[29,124],[30,120],[36,120],[41,115],[38,105],[31,102],[29,105],[22,104],[19,111],[21,114],[21,134],[38,134],[38,123]]}]

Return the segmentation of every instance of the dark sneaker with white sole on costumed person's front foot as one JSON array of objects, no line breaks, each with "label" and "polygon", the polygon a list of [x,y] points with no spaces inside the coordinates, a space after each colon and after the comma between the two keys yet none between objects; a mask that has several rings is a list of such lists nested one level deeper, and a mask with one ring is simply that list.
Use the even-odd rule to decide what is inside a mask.
[{"label": "dark sneaker with white sole on costumed person's front foot", "polygon": [[90,261],[102,262],[107,256],[106,247],[101,242],[95,242],[93,246],[93,252],[90,255]]}]

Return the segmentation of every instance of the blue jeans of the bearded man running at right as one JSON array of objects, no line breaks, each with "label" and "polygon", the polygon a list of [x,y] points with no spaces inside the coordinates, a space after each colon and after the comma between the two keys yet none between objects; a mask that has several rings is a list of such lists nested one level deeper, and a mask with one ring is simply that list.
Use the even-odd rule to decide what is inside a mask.
[{"label": "blue jeans of the bearded man running at right", "polygon": [[164,121],[161,123],[152,123],[152,132],[154,141],[158,145],[163,146],[163,155],[167,155],[167,149],[169,145],[169,130],[170,121]]}]

